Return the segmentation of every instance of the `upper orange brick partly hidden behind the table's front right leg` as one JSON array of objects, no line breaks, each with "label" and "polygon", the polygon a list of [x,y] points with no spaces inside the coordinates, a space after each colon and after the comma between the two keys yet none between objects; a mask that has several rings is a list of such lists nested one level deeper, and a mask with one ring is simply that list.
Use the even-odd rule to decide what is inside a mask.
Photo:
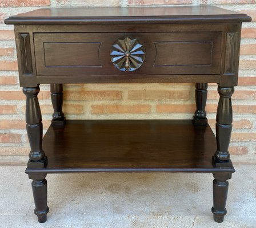
[{"label": "upper orange brick partly hidden behind the table's front right leg", "polygon": [[[218,100],[219,93],[217,91],[209,91],[207,95],[209,100]],[[235,100],[254,100],[256,99],[256,91],[235,91],[232,95]]]}]

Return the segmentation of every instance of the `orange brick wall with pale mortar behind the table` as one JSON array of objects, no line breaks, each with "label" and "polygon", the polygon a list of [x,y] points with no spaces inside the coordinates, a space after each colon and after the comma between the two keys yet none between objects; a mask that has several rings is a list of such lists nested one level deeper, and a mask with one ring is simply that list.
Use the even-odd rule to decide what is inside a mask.
[{"label": "orange brick wall with pale mortar behind the table", "polygon": [[[0,0],[0,164],[24,164],[29,144],[25,132],[25,96],[18,85],[13,26],[3,19],[38,7],[217,5],[249,14],[242,28],[239,86],[233,95],[234,163],[256,164],[256,1],[255,0]],[[67,119],[191,119],[193,84],[65,85]],[[207,113],[215,124],[217,87],[209,85]],[[49,86],[41,85],[39,102],[44,129],[51,120]],[[45,131],[44,130],[44,131]]]}]

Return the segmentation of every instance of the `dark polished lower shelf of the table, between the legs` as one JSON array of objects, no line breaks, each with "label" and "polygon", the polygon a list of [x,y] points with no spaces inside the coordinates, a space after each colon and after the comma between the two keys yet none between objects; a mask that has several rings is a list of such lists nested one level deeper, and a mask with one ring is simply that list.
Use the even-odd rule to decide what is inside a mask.
[{"label": "dark polished lower shelf of the table, between the legs", "polygon": [[46,168],[26,173],[234,172],[211,162],[216,139],[191,120],[67,120],[43,138]]}]

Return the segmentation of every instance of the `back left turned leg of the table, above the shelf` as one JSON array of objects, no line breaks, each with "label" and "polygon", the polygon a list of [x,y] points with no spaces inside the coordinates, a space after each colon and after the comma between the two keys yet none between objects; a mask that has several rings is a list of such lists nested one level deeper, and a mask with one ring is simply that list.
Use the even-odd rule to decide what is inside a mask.
[{"label": "back left turned leg of the table, above the shelf", "polygon": [[65,116],[62,112],[63,105],[63,86],[62,84],[51,84],[51,103],[53,104],[53,120],[52,125],[65,124]]}]

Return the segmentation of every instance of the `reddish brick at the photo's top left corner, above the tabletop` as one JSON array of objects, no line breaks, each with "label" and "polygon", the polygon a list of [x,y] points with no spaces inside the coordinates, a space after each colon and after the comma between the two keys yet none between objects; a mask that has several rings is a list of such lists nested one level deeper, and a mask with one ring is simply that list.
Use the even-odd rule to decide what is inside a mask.
[{"label": "reddish brick at the photo's top left corner, above the tabletop", "polygon": [[1,7],[49,6],[50,0],[0,0]]}]

